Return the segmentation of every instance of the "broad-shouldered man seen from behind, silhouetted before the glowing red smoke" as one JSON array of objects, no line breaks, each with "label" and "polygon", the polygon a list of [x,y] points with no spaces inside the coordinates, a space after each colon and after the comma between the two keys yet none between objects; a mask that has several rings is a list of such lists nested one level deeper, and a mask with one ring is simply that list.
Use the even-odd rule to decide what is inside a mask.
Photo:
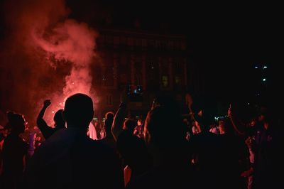
[{"label": "broad-shouldered man seen from behind, silhouetted before the glowing red smoke", "polygon": [[87,136],[94,114],[90,97],[65,102],[67,129],[57,131],[35,151],[26,169],[27,188],[122,188],[119,159],[109,146]]}]

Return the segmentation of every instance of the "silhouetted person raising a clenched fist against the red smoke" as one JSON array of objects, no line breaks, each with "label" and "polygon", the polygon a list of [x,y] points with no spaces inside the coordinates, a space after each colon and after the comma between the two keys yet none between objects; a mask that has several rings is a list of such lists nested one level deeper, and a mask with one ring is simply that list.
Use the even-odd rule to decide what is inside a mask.
[{"label": "silhouetted person raising a clenched fist against the red smoke", "polygon": [[50,106],[50,104],[50,100],[45,100],[45,102],[43,102],[43,108],[40,110],[40,113],[38,114],[38,119],[36,120],[38,129],[40,129],[45,139],[48,139],[51,135],[55,133],[55,131],[58,131],[59,129],[65,129],[65,121],[62,118],[63,109],[58,110],[58,112],[54,114],[53,121],[55,123],[55,128],[52,128],[48,126],[48,124],[46,124],[45,120],[43,119],[43,116],[45,114],[45,110]]}]

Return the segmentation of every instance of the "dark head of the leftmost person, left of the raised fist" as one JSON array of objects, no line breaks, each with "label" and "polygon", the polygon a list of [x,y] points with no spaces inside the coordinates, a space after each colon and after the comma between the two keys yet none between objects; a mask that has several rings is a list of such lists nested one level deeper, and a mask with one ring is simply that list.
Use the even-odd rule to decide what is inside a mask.
[{"label": "dark head of the leftmost person, left of the raised fist", "polygon": [[25,131],[26,120],[22,114],[8,112],[7,118],[9,121],[9,126],[11,127],[11,133],[18,135]]}]

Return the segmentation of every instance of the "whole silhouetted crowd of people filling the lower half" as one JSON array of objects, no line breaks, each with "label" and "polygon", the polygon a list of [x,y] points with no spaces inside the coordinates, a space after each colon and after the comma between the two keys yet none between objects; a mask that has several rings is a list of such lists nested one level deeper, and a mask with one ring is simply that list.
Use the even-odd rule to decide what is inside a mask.
[{"label": "whole silhouetted crowd of people filling the lower half", "polygon": [[128,100],[122,98],[104,126],[94,125],[95,136],[93,102],[84,94],[67,98],[53,127],[44,119],[51,103],[45,100],[27,137],[23,115],[8,112],[0,134],[0,187],[281,188],[278,117],[266,109],[243,123],[230,107],[214,120],[187,102],[185,116],[174,99],[157,97],[146,119],[136,120],[125,119]]}]

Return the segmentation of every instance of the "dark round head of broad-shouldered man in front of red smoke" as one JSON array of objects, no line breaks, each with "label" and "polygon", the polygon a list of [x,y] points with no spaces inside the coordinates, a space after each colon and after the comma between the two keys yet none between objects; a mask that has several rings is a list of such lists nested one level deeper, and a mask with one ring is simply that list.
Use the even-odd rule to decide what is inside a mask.
[{"label": "dark round head of broad-shouldered man in front of red smoke", "polygon": [[92,99],[81,93],[68,97],[62,115],[67,127],[87,129],[94,115]]}]

